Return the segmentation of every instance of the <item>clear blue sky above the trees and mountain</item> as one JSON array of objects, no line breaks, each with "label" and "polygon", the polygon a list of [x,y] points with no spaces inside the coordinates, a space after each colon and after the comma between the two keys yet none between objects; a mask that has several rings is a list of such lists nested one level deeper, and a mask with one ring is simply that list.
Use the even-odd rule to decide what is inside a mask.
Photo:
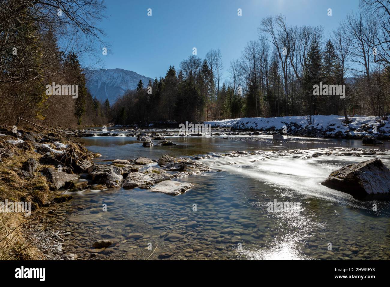
[{"label": "clear blue sky above the trees and mountain", "polygon": [[[193,47],[202,59],[210,49],[220,48],[226,71],[246,43],[258,39],[263,17],[282,13],[291,25],[322,25],[328,37],[358,4],[358,0],[106,0],[109,17],[99,26],[111,46],[102,64],[163,77],[170,65],[179,68]],[[152,16],[147,16],[148,8]],[[238,8],[242,16],[237,15]],[[327,15],[328,8],[332,16]]]}]

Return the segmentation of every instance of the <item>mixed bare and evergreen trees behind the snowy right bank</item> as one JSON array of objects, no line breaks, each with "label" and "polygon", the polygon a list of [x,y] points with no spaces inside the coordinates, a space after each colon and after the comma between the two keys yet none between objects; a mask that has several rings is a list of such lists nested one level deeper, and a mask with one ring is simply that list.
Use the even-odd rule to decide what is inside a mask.
[{"label": "mixed bare and evergreen trees behind the snowy right bank", "polygon": [[[261,20],[258,39],[249,41],[241,57],[229,63],[227,78],[222,78],[220,49],[204,59],[191,55],[178,68],[170,66],[165,77],[140,81],[136,90],[126,92],[112,106],[112,120],[383,117],[390,109],[389,27],[390,2],[380,0],[361,1],[360,9],[329,36],[320,26],[291,26],[282,15],[268,16]],[[314,95],[313,86],[320,83],[346,85],[345,98]]]}]

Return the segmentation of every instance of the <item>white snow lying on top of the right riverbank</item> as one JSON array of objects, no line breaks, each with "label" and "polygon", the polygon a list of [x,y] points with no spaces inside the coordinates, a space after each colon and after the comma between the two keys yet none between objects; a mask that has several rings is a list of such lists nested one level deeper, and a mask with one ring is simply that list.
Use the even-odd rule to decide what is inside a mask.
[{"label": "white snow lying on top of the right riverbank", "polygon": [[[308,125],[306,116],[291,116],[291,117],[275,117],[275,118],[237,118],[237,119],[224,119],[222,121],[205,121],[205,124],[211,124],[211,127],[228,127],[234,129],[251,129],[251,130],[283,130],[283,126],[289,126],[293,123],[300,126],[300,128],[316,128],[317,130],[327,130],[326,134],[335,134],[337,132],[346,132],[350,130],[351,134],[371,134],[365,130],[359,129],[362,125],[367,124],[370,129],[377,126],[377,132],[381,134],[390,134],[390,122],[389,120],[382,121],[385,123],[383,127],[377,123],[377,117],[375,116],[353,116],[349,117],[352,121],[348,125],[345,125],[344,116],[313,116],[313,125]],[[291,127],[294,130],[294,126]],[[333,130],[334,129],[334,130]],[[374,132],[375,133],[375,132]]]}]

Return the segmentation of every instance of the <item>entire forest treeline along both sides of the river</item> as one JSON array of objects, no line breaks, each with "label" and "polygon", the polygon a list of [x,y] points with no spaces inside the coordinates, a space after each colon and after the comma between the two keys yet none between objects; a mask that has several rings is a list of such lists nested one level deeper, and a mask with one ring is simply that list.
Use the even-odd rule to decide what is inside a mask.
[{"label": "entire forest treeline along both sides of the river", "polygon": [[[0,125],[18,125],[19,118],[69,127],[389,113],[389,1],[361,0],[329,35],[268,16],[238,59],[224,64],[220,49],[204,59],[190,55],[111,106],[88,92],[90,67],[80,60],[106,47],[97,27],[104,12],[101,0],[0,2]],[[78,96],[47,94],[51,83],[76,84]],[[320,83],[345,84],[345,98],[314,94]]]}]

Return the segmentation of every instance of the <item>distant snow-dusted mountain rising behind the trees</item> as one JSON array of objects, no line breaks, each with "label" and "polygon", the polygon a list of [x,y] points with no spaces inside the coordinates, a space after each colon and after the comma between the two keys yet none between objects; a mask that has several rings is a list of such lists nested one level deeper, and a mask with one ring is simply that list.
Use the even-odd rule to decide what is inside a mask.
[{"label": "distant snow-dusted mountain rising behind the trees", "polygon": [[85,70],[86,86],[92,97],[96,96],[101,102],[108,98],[111,104],[115,103],[126,90],[136,89],[140,80],[144,83],[144,87],[147,87],[149,79],[123,69]]}]

